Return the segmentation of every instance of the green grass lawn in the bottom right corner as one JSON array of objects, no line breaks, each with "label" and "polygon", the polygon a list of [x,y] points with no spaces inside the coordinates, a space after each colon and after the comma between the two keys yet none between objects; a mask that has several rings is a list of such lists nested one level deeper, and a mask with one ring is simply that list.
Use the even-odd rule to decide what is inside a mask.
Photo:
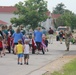
[{"label": "green grass lawn in the bottom right corner", "polygon": [[76,75],[76,59],[64,65],[61,71],[54,72],[51,75]]}]

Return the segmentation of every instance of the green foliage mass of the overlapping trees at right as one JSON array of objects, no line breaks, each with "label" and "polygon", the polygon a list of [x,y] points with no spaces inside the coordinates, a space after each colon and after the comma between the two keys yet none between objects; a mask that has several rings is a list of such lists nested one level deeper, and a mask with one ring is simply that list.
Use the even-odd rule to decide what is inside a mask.
[{"label": "green foliage mass of the overlapping trees at right", "polygon": [[53,14],[61,14],[58,19],[53,20],[56,28],[58,26],[70,26],[72,29],[76,28],[76,14],[65,9],[65,5],[63,3],[60,3],[55,7]]}]

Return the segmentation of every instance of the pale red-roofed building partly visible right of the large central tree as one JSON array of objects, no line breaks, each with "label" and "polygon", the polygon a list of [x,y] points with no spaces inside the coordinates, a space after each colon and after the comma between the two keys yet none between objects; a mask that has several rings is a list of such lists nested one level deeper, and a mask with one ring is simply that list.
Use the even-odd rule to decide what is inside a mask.
[{"label": "pale red-roofed building partly visible right of the large central tree", "polygon": [[50,11],[47,12],[48,19],[45,22],[42,22],[41,25],[46,28],[46,30],[49,30],[49,27],[55,30],[54,21],[56,21],[57,18],[59,18],[60,14],[51,14]]}]

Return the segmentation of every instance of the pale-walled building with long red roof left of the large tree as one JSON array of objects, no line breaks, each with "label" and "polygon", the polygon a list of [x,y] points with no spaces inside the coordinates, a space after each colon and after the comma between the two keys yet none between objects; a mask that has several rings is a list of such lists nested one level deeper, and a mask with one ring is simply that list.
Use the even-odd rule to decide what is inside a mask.
[{"label": "pale-walled building with long red roof left of the large tree", "polygon": [[7,25],[10,25],[10,19],[12,17],[18,17],[17,15],[14,15],[14,11],[17,9],[13,6],[0,6],[0,20],[7,23]]}]

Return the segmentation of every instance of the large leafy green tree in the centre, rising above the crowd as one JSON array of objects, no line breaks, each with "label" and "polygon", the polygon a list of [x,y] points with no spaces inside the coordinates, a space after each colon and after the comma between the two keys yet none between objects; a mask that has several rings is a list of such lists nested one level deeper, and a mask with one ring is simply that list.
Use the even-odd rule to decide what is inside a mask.
[{"label": "large leafy green tree in the centre, rising above the crowd", "polygon": [[13,24],[30,25],[34,29],[39,22],[47,19],[47,2],[44,0],[26,0],[24,3],[19,2],[15,7],[17,8],[15,14],[19,17],[11,19]]}]

